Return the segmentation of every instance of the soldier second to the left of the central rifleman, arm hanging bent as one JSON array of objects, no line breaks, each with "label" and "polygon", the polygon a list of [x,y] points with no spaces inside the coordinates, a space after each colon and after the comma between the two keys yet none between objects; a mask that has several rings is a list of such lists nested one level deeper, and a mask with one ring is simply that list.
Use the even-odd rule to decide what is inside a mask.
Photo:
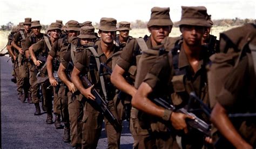
[{"label": "soldier second to the left of the central rifleman, arm hanging bent", "polygon": [[[57,71],[60,63],[60,53],[68,51],[70,43],[79,31],[79,23],[75,20],[70,20],[66,23],[66,32],[68,33],[64,38],[58,39],[52,46],[48,58],[46,68],[48,71],[49,81],[53,86],[53,112],[55,113],[55,127],[56,129],[62,129],[60,123],[60,116],[64,122],[64,135],[63,140],[65,142],[70,141],[70,124],[69,124],[69,111],[68,111],[68,96],[66,93],[68,89],[65,88],[64,83],[57,78]],[[74,41],[75,42],[75,41]],[[76,43],[75,43],[76,45]],[[52,66],[52,61],[55,58],[55,67]],[[57,81],[57,80],[58,81]],[[52,118],[52,115],[49,115]]]}]

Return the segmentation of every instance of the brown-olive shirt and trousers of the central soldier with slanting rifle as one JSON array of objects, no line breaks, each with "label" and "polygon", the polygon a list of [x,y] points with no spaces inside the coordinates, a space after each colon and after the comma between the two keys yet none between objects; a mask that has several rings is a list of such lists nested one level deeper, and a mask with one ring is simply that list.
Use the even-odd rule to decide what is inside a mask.
[{"label": "brown-olive shirt and trousers of the central soldier with slanting rifle", "polygon": [[[108,67],[111,68],[112,55],[113,53],[116,53],[119,49],[116,46],[113,46],[110,57],[107,58],[106,55],[102,52],[102,48],[100,47],[100,41],[96,41],[95,45],[98,47],[97,53],[99,55],[100,62],[105,63]],[[82,74],[84,75],[88,73],[87,71],[90,62],[90,56],[92,56],[90,50],[76,51],[76,58],[74,63],[75,67],[80,70],[80,72],[82,72]],[[104,80],[109,102],[107,104],[107,108],[109,108],[109,110],[113,113],[114,117],[117,117],[116,108],[114,107],[113,103],[116,89],[110,83],[109,75],[104,76]],[[101,87],[99,81],[93,84],[95,84],[96,89],[100,90]],[[95,103],[92,100],[88,100],[86,98],[83,98],[83,100],[85,100],[85,104],[83,113],[82,147],[96,148],[102,130],[102,122],[104,116],[101,112],[99,112],[99,109],[97,108],[97,106],[95,106]],[[104,121],[107,140],[109,143],[108,148],[119,148],[121,132],[116,131],[106,118],[104,118]]]}]

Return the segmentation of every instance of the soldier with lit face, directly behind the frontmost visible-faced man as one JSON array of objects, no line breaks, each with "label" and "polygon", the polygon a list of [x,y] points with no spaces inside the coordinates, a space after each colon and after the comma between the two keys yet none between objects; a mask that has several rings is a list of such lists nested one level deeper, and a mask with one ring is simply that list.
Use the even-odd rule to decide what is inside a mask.
[{"label": "soldier with lit face, directly behind the frontmost visible-faced man", "polygon": [[[113,73],[111,75],[111,81],[118,89],[124,91],[126,94],[131,95],[132,97],[137,91],[137,87],[133,86],[133,83],[129,83],[124,79],[125,73],[132,74],[131,76],[134,78],[134,67],[137,66],[138,63],[136,59],[137,55],[140,54],[140,51],[144,50],[144,48],[150,48],[154,51],[157,51],[164,46],[161,42],[164,41],[164,38],[169,36],[169,33],[172,29],[172,20],[170,19],[170,8],[158,8],[154,7],[151,9],[151,18],[149,23],[147,23],[147,27],[151,33],[150,38],[148,38],[144,43],[146,47],[140,45],[137,39],[132,39],[123,49],[122,54],[120,55],[117,65],[113,69]],[[141,41],[141,40],[140,40]],[[146,49],[145,49],[146,50]],[[137,58],[136,58],[137,57]],[[153,62],[155,58],[151,59]],[[142,71],[142,74],[145,75],[148,69],[151,66],[146,66],[145,70]],[[136,74],[137,79],[138,72]],[[140,79],[141,80],[141,79]],[[137,82],[137,80],[135,80]],[[140,83],[138,83],[140,84]],[[135,108],[131,109],[131,119],[130,119],[130,130],[134,139],[134,148],[149,148],[152,147],[152,141],[150,138],[149,131],[140,125],[138,119],[138,110]]]}]

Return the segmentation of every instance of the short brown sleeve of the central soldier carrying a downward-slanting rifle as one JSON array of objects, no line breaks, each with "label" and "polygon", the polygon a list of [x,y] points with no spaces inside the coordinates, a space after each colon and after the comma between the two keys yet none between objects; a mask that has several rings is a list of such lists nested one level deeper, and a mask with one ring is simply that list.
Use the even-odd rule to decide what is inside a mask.
[{"label": "short brown sleeve of the central soldier carrying a downward-slanting rifle", "polygon": [[76,51],[74,66],[82,72],[87,65],[87,50]]}]

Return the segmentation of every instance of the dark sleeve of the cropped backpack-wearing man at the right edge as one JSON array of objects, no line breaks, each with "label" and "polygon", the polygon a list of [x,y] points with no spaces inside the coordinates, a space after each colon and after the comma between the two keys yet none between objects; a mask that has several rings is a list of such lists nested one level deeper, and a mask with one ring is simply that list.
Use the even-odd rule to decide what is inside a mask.
[{"label": "dark sleeve of the cropped backpack-wearing man at the right edge", "polygon": [[241,97],[242,93],[246,93],[250,86],[250,75],[248,72],[248,58],[242,59],[237,68],[233,69],[228,75],[228,79],[217,96],[218,102],[226,109],[231,110],[236,100]]}]

